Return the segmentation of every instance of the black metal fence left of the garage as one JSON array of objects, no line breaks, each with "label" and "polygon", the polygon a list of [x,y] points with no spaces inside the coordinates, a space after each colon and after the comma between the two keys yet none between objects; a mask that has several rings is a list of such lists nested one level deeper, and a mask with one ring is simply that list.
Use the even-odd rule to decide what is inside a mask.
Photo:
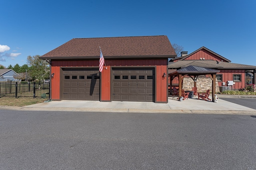
[{"label": "black metal fence left of the garage", "polygon": [[0,98],[50,98],[50,82],[0,82]]}]

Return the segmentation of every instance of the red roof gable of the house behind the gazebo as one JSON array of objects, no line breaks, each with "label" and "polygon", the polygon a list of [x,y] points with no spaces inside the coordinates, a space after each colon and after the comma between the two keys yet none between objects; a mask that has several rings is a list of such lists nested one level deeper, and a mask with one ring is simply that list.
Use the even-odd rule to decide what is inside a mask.
[{"label": "red roof gable of the house behind the gazebo", "polygon": [[219,61],[231,62],[230,60],[226,59],[225,57],[222,57],[221,55],[218,55],[217,53],[214,53],[213,51],[207,49],[206,47],[201,47],[200,49],[194,51],[193,53],[190,53],[189,55],[174,58],[174,59],[172,59],[172,61],[178,61],[178,60],[182,61],[182,60],[186,60],[188,58],[193,58],[192,60],[195,60],[196,58],[198,60],[203,60],[204,56],[211,56],[210,57],[211,60],[216,59],[216,60],[219,60]]}]

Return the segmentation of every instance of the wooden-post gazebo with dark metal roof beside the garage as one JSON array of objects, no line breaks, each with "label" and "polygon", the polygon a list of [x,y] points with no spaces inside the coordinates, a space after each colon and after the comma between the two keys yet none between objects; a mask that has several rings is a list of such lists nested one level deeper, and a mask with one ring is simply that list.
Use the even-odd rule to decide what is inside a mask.
[{"label": "wooden-post gazebo with dark metal roof beside the garage", "polygon": [[[199,67],[199,66],[187,66],[185,68],[181,68],[179,70],[176,70],[174,72],[171,72],[169,74],[170,76],[170,88],[172,89],[172,80],[175,77],[178,77],[179,80],[179,89],[182,89],[182,80],[184,77],[189,76],[193,79],[194,81],[194,87],[196,87],[196,80],[198,76],[202,75],[207,75],[212,79],[212,99],[214,98],[215,94],[215,87],[216,87],[216,73],[220,72],[220,70],[214,70],[212,68],[204,68],[204,67]],[[179,90],[179,99],[182,96],[182,91]],[[214,100],[212,100],[214,102]]]}]

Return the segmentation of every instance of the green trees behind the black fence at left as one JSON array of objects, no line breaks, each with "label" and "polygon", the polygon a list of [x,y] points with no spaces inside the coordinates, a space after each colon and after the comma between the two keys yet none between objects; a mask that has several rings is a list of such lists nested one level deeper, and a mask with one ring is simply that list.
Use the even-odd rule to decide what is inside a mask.
[{"label": "green trees behind the black fence at left", "polygon": [[[12,66],[10,64],[7,69],[12,69],[18,73],[18,76],[15,76],[14,78],[20,80],[34,81],[49,79],[50,65],[45,60],[39,59],[39,57],[40,55],[29,55],[27,57],[27,64],[23,64],[22,66],[19,64]],[[5,66],[0,65],[0,69],[5,68]]]}]

